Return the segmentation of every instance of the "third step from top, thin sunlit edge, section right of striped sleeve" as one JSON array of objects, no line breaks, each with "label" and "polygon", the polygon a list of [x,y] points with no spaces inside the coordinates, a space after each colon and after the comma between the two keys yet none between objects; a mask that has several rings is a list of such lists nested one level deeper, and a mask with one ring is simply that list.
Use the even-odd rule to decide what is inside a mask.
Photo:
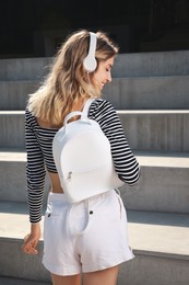
[{"label": "third step from top, thin sunlit edge, section right of striped sleeve", "polygon": [[189,111],[118,111],[134,150],[189,151]]}]

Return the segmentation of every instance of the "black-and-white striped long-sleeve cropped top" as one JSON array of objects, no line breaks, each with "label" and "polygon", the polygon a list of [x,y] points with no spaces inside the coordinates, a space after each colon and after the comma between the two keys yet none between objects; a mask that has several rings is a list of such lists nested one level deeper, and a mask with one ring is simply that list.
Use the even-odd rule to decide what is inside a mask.
[{"label": "black-and-white striped long-sleeve cropped top", "polygon": [[[88,117],[101,125],[111,147],[115,170],[127,184],[140,178],[140,166],[127,141],[120,118],[110,102],[96,99],[90,106]],[[58,128],[40,127],[36,117],[25,110],[27,204],[31,223],[42,219],[46,170],[58,173],[52,156],[52,140]]]}]

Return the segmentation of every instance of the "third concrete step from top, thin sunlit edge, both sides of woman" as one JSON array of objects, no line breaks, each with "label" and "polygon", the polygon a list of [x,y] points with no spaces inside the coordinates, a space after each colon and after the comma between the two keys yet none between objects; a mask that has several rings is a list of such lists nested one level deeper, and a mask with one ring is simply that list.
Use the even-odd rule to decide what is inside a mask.
[{"label": "third concrete step from top, thin sunlit edge, both sides of woman", "polygon": [[[189,151],[189,110],[117,112],[132,149]],[[24,111],[1,111],[0,133],[0,148],[25,148]]]}]

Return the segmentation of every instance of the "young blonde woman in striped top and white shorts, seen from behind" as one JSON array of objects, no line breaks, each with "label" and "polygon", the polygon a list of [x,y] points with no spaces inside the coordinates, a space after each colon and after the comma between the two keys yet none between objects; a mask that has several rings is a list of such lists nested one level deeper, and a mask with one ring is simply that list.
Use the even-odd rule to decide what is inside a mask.
[{"label": "young blonde woman in striped top and white shorts, seen from behind", "polygon": [[82,282],[83,285],[115,285],[119,264],[133,258],[120,195],[113,189],[71,204],[61,187],[52,153],[54,137],[62,127],[66,115],[82,111],[86,100],[94,98],[88,117],[97,121],[107,136],[119,179],[129,185],[139,180],[140,167],[116,110],[102,98],[104,86],[111,82],[117,54],[118,46],[104,32],[94,34],[82,30],[72,33],[26,106],[31,232],[24,239],[23,251],[37,253],[47,170],[51,191],[45,214],[43,264],[51,273],[54,285],[81,285]]}]

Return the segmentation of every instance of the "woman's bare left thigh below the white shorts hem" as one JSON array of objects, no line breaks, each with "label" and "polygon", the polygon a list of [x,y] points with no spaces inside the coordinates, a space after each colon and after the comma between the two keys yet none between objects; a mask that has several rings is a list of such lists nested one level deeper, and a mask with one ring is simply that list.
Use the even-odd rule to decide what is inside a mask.
[{"label": "woman's bare left thigh below the white shorts hem", "polygon": [[54,285],[81,285],[81,275],[60,276],[51,274]]}]

